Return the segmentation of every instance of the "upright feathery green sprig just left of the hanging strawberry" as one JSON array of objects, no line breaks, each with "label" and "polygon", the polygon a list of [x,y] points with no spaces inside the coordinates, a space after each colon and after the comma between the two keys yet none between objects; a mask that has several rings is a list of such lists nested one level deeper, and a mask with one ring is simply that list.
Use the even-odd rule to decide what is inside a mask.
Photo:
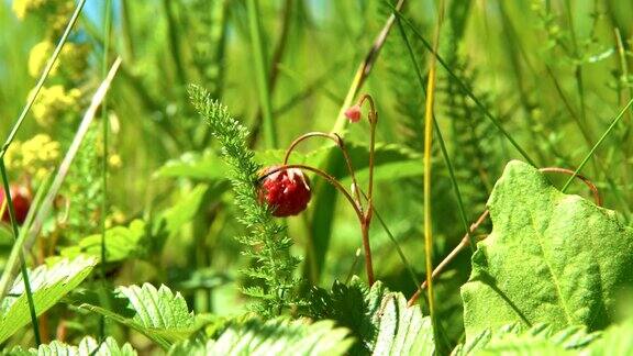
[{"label": "upright feathery green sprig just left of the hanging strawberry", "polygon": [[235,203],[243,211],[241,221],[251,229],[248,236],[241,237],[246,246],[243,253],[255,258],[258,266],[249,267],[244,272],[263,285],[246,287],[243,291],[259,300],[257,311],[264,315],[281,313],[295,298],[297,280],[292,274],[299,259],[290,255],[292,241],[284,234],[284,227],[257,200],[257,173],[260,167],[246,146],[248,131],[231,118],[225,107],[212,100],[207,90],[191,86],[189,94],[222,146],[222,157],[230,167]]}]

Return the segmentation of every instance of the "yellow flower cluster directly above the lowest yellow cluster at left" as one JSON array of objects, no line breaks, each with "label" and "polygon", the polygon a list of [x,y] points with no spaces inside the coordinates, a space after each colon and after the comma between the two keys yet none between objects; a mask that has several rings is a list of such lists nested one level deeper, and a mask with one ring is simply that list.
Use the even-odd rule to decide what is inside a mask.
[{"label": "yellow flower cluster directly above the lowest yellow cluster at left", "polygon": [[[31,97],[32,94],[30,94]],[[38,124],[44,127],[59,122],[65,113],[79,110],[79,89],[66,90],[63,86],[52,86],[42,88],[40,96],[33,104],[33,116]]]}]

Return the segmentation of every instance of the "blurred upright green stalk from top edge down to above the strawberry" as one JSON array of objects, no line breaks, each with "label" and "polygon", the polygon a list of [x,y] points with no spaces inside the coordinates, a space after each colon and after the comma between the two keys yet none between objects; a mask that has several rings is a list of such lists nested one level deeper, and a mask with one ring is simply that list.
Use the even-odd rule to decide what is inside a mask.
[{"label": "blurred upright green stalk from top edge down to above the strawberry", "polygon": [[257,0],[247,0],[248,27],[251,30],[251,44],[255,62],[255,79],[259,92],[259,104],[264,115],[264,138],[267,148],[277,147],[277,132],[273,121],[273,104],[268,92],[268,74],[266,73],[266,56],[259,27],[259,7]]}]

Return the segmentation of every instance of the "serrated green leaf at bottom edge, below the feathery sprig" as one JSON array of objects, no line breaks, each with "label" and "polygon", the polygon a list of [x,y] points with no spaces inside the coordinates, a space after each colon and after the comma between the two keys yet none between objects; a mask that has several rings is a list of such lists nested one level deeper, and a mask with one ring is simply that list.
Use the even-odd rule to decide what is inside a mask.
[{"label": "serrated green leaf at bottom edge, below the feathery sprig", "polygon": [[345,355],[353,342],[348,333],[332,321],[251,319],[229,326],[215,340],[177,344],[169,355]]}]

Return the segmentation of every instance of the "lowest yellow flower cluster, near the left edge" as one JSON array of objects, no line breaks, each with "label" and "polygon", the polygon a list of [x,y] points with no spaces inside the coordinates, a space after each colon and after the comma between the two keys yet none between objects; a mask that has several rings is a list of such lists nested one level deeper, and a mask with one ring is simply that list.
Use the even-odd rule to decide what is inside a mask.
[{"label": "lowest yellow flower cluster, near the left edge", "polygon": [[59,143],[46,134],[13,142],[4,156],[9,170],[25,173],[35,179],[44,178],[58,158]]}]

